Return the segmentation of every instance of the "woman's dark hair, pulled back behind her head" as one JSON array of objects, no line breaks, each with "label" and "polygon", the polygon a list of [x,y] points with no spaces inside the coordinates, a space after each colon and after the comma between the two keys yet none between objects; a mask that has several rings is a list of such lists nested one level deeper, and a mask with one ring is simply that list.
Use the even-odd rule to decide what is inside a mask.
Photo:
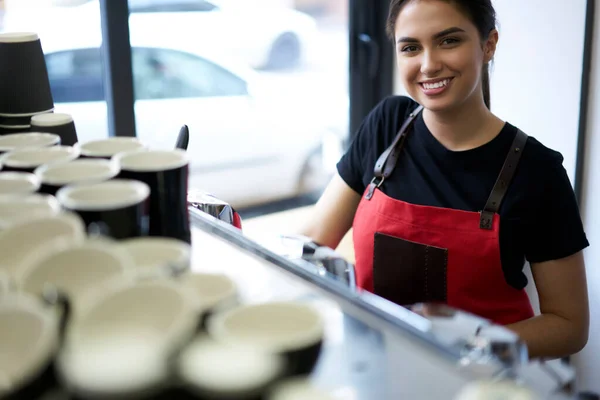
[{"label": "woman's dark hair, pulled back behind her head", "polygon": [[[390,40],[394,42],[396,20],[402,7],[413,0],[391,0],[388,13],[386,32]],[[496,10],[491,0],[444,0],[454,3],[460,8],[473,22],[479,31],[482,40],[487,39],[490,32],[496,28]],[[481,71],[483,86],[483,100],[487,108],[490,108],[490,70],[489,65],[485,64]]]}]

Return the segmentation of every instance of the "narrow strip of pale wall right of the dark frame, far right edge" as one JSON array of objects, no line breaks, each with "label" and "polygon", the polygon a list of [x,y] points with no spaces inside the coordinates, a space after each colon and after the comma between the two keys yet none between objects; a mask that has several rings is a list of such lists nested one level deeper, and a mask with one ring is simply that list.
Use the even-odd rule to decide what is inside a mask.
[{"label": "narrow strip of pale wall right of the dark frame, far right edge", "polygon": [[590,110],[587,127],[586,165],[581,212],[591,246],[585,253],[591,307],[590,340],[578,354],[579,386],[600,392],[600,7],[596,5]]}]

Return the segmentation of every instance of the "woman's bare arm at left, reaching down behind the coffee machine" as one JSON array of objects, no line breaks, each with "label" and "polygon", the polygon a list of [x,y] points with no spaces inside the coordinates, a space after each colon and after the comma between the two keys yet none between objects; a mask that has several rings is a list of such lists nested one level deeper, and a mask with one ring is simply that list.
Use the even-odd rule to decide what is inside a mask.
[{"label": "woman's bare arm at left, reaching down behind the coffee machine", "polygon": [[315,242],[335,249],[352,227],[361,196],[336,174],[314,206],[302,231]]}]

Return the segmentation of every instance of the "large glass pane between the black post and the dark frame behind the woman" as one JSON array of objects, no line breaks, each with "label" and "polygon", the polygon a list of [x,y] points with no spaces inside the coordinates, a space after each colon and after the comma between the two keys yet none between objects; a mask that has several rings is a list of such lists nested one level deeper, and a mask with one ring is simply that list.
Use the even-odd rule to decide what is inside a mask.
[{"label": "large glass pane between the black post and the dark frame behind the woman", "polygon": [[187,125],[189,187],[236,209],[314,202],[348,136],[348,0],[129,5],[138,137]]}]

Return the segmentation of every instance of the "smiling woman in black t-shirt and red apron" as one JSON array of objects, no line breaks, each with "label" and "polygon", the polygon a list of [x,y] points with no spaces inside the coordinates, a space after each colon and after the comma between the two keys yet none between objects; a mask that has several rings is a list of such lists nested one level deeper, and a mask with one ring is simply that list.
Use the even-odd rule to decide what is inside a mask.
[{"label": "smiling woman in black t-shirt and red apron", "polygon": [[562,357],[587,342],[589,243],[562,155],[491,112],[495,24],[491,0],[390,2],[411,98],[366,117],[302,233],[335,248],[352,227],[363,289],[447,303],[513,329],[531,357]]}]

